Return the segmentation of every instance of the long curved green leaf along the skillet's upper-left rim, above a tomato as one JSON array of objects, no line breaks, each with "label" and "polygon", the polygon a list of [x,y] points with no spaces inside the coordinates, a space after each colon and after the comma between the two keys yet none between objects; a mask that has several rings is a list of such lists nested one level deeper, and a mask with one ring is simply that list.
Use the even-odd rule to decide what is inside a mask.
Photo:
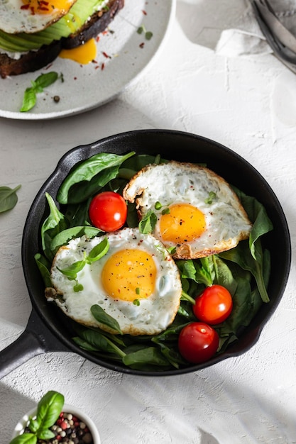
[{"label": "long curved green leaf along the skillet's upper-left rim, above a tomato", "polygon": [[[60,204],[68,203],[68,194],[70,188],[80,182],[89,182],[99,172],[102,172],[106,168],[120,166],[124,160],[128,159],[135,154],[135,152],[128,152],[126,155],[116,155],[109,152],[99,152],[97,155],[89,157],[84,160],[77,167],[75,167],[70,174],[67,175],[64,182],[60,186],[57,192],[57,201]],[[76,202],[77,203],[77,202]]]}]

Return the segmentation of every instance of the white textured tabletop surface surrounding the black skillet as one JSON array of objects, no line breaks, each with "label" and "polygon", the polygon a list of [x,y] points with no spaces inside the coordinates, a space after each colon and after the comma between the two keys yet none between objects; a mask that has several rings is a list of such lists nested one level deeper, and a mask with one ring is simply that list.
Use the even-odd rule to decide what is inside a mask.
[{"label": "white textured tabletop surface surrounding the black skillet", "polygon": [[57,121],[0,120],[0,182],[22,184],[16,208],[0,215],[0,348],[23,331],[31,312],[21,235],[40,185],[70,148],[140,128],[212,138],[267,179],[292,238],[278,309],[246,354],[178,377],[116,374],[72,353],[33,357],[0,382],[1,444],[48,389],[91,414],[104,444],[296,443],[296,77],[271,54],[214,52],[221,31],[236,26],[247,4],[178,0],[158,62],[116,100]]}]

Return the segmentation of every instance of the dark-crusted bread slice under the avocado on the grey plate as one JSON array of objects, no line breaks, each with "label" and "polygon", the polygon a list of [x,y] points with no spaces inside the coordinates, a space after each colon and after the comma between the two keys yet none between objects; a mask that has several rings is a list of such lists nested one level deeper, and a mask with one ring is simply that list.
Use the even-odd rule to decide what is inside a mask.
[{"label": "dark-crusted bread slice under the avocado on the grey plate", "polygon": [[12,59],[9,55],[0,54],[0,76],[5,79],[8,76],[40,70],[53,62],[63,48],[76,48],[90,38],[97,37],[99,33],[106,30],[109,23],[116,16],[116,13],[123,7],[124,0],[110,0],[108,7],[98,13],[94,13],[89,21],[80,28],[79,32],[61,40],[54,40],[50,45],[43,45],[37,51],[26,52],[17,60]]}]

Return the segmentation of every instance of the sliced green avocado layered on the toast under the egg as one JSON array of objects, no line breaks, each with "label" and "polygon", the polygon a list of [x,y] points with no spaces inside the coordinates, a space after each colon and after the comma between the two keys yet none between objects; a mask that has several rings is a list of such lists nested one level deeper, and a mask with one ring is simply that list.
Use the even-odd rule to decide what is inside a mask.
[{"label": "sliced green avocado layered on the toast under the egg", "polygon": [[0,30],[0,48],[9,52],[27,52],[50,45],[53,40],[67,38],[79,30],[89,16],[104,9],[107,3],[106,0],[77,0],[65,16],[38,33],[9,34]]}]

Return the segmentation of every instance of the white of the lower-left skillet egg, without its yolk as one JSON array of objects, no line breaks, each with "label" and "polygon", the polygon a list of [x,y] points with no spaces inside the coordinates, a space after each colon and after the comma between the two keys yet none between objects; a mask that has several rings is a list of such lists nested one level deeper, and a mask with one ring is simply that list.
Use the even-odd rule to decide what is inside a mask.
[{"label": "white of the lower-left skillet egg, without its yolk", "polygon": [[[143,235],[138,228],[123,228],[115,233],[108,233],[109,251],[92,265],[85,265],[77,274],[77,281],[83,285],[83,290],[74,292],[75,282],[67,279],[58,269],[65,269],[78,260],[82,260],[84,251],[88,254],[104,236],[91,240],[82,236],[75,238],[61,247],[51,268],[53,287],[59,297],[55,302],[67,316],[85,326],[100,327],[111,333],[110,328],[102,325],[91,313],[91,306],[98,304],[106,313],[119,322],[123,333],[131,335],[155,335],[165,330],[175,318],[180,305],[182,285],[177,265],[168,251],[153,235]],[[114,252],[123,249],[141,249],[153,256],[157,274],[155,289],[146,299],[137,296],[139,305],[132,301],[114,299],[106,294],[102,285],[101,274],[106,261]]]}]

